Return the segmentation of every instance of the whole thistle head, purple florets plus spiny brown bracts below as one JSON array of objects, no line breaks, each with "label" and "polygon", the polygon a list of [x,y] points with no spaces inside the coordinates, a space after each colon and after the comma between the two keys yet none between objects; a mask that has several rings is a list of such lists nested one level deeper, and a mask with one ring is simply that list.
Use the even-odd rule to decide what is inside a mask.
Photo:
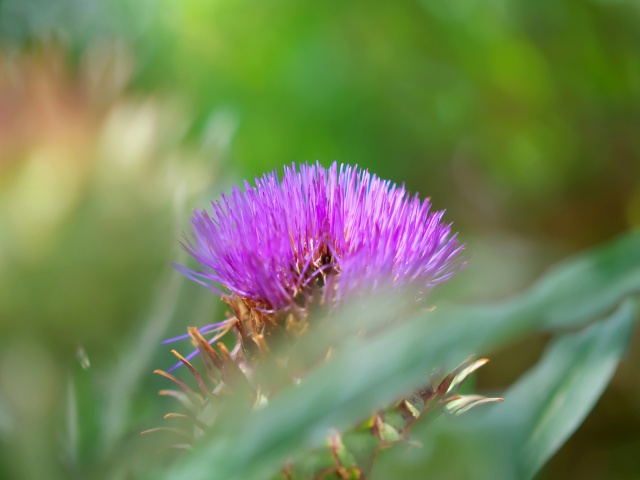
[{"label": "whole thistle head, purple florets plus spiny brown bracts below", "polygon": [[[213,202],[210,211],[196,210],[193,235],[184,247],[200,269],[178,268],[222,294],[232,312],[222,322],[191,327],[188,335],[165,342],[191,339],[196,351],[186,357],[173,353],[178,365],[193,374],[199,391],[168,372],[156,371],[180,389],[161,393],[176,397],[187,410],[165,418],[186,421],[189,429],[147,432],[170,431],[191,444],[216,425],[225,402],[240,399],[250,408],[261,408],[284,386],[298,385],[307,370],[329,359],[334,349],[331,336],[314,336],[318,348],[305,348],[310,344],[304,343],[295,347],[309,330],[308,307],[313,302],[333,306],[358,292],[383,287],[413,287],[426,293],[448,279],[462,265],[463,246],[442,216],[443,212],[430,212],[429,200],[410,197],[404,186],[336,163],[328,169],[318,163],[292,165],[284,169],[282,180],[276,172],[269,173],[256,179],[255,186],[245,183],[243,189],[235,188]],[[331,319],[324,320],[315,327]],[[283,331],[292,333],[294,342],[279,342]],[[217,342],[228,332],[235,336],[231,347]],[[203,337],[211,334],[212,338]],[[189,361],[197,353],[204,366],[200,371]],[[274,354],[275,362],[265,361]],[[407,441],[411,426],[431,412],[459,414],[499,401],[457,394],[464,379],[486,361],[468,358],[449,375],[433,374],[411,396],[351,430],[331,434],[328,452],[321,448],[304,462],[289,462],[283,476],[324,478],[335,473],[340,478],[364,478],[380,448]],[[264,374],[274,371],[277,375]],[[374,442],[358,452],[358,463],[341,435],[361,436],[366,429]]]}]

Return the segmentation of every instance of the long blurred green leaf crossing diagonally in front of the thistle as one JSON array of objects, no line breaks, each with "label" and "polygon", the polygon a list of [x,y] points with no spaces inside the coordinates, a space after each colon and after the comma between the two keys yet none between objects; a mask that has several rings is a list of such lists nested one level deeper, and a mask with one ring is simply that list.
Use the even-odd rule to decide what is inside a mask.
[{"label": "long blurred green leaf crossing diagonally in front of the thistle", "polygon": [[[640,237],[634,232],[564,263],[515,300],[439,309],[381,331],[374,329],[375,335],[345,335],[330,361],[307,375],[298,387],[283,389],[259,411],[225,412],[221,416],[224,424],[216,425],[182,462],[154,473],[153,478],[264,478],[286,460],[322,445],[332,429],[344,431],[409,394],[434,370],[451,368],[472,353],[485,355],[536,330],[586,325],[638,291]],[[391,307],[374,302],[372,308],[360,309],[358,316],[353,310],[349,315],[336,314],[327,335],[339,338],[339,328],[353,332],[357,331],[354,325],[384,324],[394,305],[388,303]],[[604,329],[601,334],[608,332],[605,327],[593,328]],[[625,339],[629,328],[615,338]],[[307,335],[304,341],[322,345],[323,331]],[[562,348],[572,345],[564,342]],[[605,385],[608,377],[602,379]],[[538,461],[531,460],[532,465]]]}]

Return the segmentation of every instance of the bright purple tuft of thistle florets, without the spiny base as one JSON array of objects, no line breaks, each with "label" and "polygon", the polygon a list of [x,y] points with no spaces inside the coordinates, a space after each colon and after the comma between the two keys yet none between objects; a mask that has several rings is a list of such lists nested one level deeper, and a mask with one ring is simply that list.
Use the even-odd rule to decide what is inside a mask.
[{"label": "bright purple tuft of thistle florets, without the spiny base", "polygon": [[268,316],[389,285],[427,292],[462,266],[464,248],[430,207],[367,170],[293,164],[282,181],[268,173],[196,210],[183,246],[201,271],[177,268]]}]

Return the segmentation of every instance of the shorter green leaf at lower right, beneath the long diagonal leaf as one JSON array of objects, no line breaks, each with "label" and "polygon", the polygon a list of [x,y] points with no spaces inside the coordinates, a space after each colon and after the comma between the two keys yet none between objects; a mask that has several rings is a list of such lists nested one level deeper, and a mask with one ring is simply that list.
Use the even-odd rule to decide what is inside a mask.
[{"label": "shorter green leaf at lower right, beneath the long diagonal leaf", "polygon": [[[411,461],[411,454],[387,458],[378,472],[410,476],[403,465],[429,469],[435,477],[527,479],[558,451],[589,414],[624,355],[635,325],[631,300],[606,320],[562,335],[539,362],[504,393],[504,403],[452,421],[440,418],[418,438],[431,455]],[[442,450],[443,445],[449,445]],[[465,458],[451,463],[451,458]]]}]

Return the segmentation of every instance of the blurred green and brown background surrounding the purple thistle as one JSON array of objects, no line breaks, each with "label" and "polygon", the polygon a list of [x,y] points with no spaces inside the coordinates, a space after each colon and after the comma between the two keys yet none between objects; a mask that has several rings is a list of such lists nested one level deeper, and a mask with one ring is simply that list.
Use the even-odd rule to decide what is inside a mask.
[{"label": "blurred green and brown background surrounding the purple thistle", "polygon": [[[118,372],[167,368],[163,338],[222,314],[170,263],[190,209],[241,179],[337,160],[430,196],[472,254],[443,302],[506,298],[637,227],[639,22],[624,0],[0,1],[0,477],[77,463],[52,447],[70,368],[127,385],[104,407],[127,422],[72,439],[87,468],[158,421],[162,382]],[[540,478],[637,478],[638,366],[636,335]]]}]

